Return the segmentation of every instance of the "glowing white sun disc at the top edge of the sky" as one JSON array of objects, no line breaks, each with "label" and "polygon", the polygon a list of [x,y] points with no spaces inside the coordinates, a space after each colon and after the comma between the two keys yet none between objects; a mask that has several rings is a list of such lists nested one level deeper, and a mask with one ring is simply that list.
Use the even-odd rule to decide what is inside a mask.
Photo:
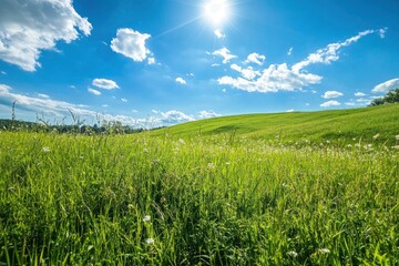
[{"label": "glowing white sun disc at the top edge of the sky", "polygon": [[226,22],[229,13],[228,0],[208,0],[204,3],[204,17],[214,25]]}]

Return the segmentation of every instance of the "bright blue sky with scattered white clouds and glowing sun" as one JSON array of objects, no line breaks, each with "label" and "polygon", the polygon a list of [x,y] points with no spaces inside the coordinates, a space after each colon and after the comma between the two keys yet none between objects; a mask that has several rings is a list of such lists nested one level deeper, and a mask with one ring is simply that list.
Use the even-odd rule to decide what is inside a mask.
[{"label": "bright blue sky with scattered white clouds and glowing sun", "polygon": [[0,119],[158,126],[366,106],[399,88],[399,2],[1,0]]}]

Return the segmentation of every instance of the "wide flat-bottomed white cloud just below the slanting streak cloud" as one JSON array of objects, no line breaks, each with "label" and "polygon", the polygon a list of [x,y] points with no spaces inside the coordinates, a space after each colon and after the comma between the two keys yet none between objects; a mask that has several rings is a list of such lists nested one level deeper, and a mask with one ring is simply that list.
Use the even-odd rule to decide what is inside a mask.
[{"label": "wide flat-bottomed white cloud just below the slanting streak cloud", "polygon": [[231,85],[248,92],[277,92],[300,90],[309,84],[321,81],[321,76],[311,73],[298,73],[288,69],[286,63],[270,64],[262,72],[257,80],[238,76],[222,76],[217,81],[221,85]]}]

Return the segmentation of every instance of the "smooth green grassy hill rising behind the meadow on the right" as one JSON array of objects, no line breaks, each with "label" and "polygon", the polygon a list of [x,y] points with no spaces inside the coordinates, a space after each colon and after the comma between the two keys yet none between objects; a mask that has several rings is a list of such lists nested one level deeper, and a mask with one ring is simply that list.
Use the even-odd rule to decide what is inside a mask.
[{"label": "smooth green grassy hill rising behind the meadow on the right", "polygon": [[154,135],[170,134],[190,137],[208,134],[238,134],[254,139],[341,140],[352,139],[395,142],[399,134],[399,104],[351,110],[244,114],[184,123],[154,131]]}]

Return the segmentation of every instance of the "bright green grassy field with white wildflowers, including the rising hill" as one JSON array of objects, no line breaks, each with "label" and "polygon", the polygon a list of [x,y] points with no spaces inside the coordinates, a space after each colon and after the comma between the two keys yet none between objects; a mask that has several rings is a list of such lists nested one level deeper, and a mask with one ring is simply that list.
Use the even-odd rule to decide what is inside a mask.
[{"label": "bright green grassy field with white wildflowers, including the rising hill", "polygon": [[396,111],[0,132],[0,265],[399,265]]}]

